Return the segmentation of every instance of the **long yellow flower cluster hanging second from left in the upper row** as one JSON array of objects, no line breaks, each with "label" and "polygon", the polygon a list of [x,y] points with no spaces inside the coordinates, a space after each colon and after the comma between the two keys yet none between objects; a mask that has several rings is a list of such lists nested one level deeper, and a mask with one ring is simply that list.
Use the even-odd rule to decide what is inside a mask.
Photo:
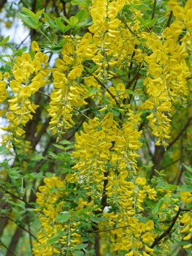
[{"label": "long yellow flower cluster hanging second from left in the upper row", "polygon": [[[59,136],[72,127],[72,110],[86,105],[88,90],[80,83],[82,61],[91,59],[96,50],[90,33],[80,37],[64,36],[63,59],[57,59],[53,69],[53,92],[48,110],[53,135]],[[76,108],[75,108],[76,109]]]}]

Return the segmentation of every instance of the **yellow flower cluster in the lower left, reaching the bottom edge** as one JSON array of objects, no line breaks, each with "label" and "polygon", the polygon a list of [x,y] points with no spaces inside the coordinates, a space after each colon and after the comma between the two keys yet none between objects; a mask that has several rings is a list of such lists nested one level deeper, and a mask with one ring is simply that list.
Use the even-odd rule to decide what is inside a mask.
[{"label": "yellow flower cluster in the lower left, reaching the bottom edge", "polygon": [[[73,180],[70,175],[66,176],[66,180]],[[37,241],[34,241],[33,252],[38,256],[52,256],[59,254],[65,250],[66,246],[70,245],[70,248],[80,244],[80,234],[76,233],[77,223],[69,222],[61,223],[57,222],[58,214],[62,214],[64,208],[64,200],[61,198],[66,197],[64,191],[66,189],[66,181],[61,181],[59,177],[44,178],[44,186],[39,187],[37,192],[37,204],[39,208],[35,211],[39,211],[39,221],[41,222],[41,229],[37,235]],[[57,241],[62,244],[62,248],[58,250],[57,244],[52,244],[52,240],[58,233],[61,236],[57,238]]]}]

